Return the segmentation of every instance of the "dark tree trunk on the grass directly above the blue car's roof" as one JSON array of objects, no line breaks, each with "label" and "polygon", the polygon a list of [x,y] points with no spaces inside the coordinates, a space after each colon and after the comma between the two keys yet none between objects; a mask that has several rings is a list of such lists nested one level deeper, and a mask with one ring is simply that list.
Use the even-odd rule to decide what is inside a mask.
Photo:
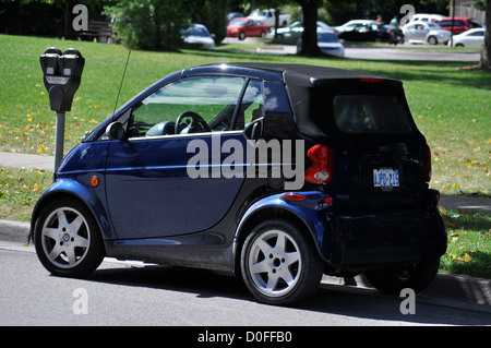
[{"label": "dark tree trunk on the grass directly above the blue car's roof", "polygon": [[303,56],[316,56],[321,52],[318,46],[318,9],[320,0],[303,0],[302,5],[302,48]]}]

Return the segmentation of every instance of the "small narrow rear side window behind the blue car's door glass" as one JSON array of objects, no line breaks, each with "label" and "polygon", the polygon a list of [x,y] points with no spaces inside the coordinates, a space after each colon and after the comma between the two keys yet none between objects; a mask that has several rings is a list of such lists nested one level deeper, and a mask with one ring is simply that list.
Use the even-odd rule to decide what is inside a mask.
[{"label": "small narrow rear side window behind the blue car's door glass", "polygon": [[242,130],[248,123],[264,115],[263,82],[250,80],[242,98],[236,120],[236,130]]}]

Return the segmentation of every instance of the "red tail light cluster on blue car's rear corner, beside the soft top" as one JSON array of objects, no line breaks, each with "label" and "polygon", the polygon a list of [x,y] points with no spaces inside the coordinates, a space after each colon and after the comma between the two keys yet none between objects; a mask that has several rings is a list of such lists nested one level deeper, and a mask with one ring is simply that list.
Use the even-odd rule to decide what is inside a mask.
[{"label": "red tail light cluster on blue car's rear corner, beside the soft top", "polygon": [[327,145],[312,146],[307,156],[312,160],[312,166],[306,172],[306,180],[311,183],[326,184],[333,179],[333,151]]}]

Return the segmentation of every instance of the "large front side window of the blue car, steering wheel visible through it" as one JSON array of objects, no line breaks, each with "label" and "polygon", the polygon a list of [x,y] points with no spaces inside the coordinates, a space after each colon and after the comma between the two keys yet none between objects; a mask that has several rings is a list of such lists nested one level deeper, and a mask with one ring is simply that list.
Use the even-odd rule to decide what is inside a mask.
[{"label": "large front side window of the blue car, steering wheel visible through it", "polygon": [[171,82],[133,110],[131,137],[229,131],[244,82],[231,76]]}]

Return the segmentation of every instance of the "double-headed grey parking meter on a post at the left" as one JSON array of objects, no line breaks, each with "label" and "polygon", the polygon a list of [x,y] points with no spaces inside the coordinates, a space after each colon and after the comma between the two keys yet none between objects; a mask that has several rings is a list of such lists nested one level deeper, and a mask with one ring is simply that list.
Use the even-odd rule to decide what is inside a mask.
[{"label": "double-headed grey parking meter on a post at the left", "polygon": [[85,59],[74,48],[63,53],[57,47],[49,47],[39,57],[43,80],[49,94],[51,110],[57,111],[57,133],[55,141],[55,170],[63,157],[64,118],[72,108],[73,96],[79,89]]}]

